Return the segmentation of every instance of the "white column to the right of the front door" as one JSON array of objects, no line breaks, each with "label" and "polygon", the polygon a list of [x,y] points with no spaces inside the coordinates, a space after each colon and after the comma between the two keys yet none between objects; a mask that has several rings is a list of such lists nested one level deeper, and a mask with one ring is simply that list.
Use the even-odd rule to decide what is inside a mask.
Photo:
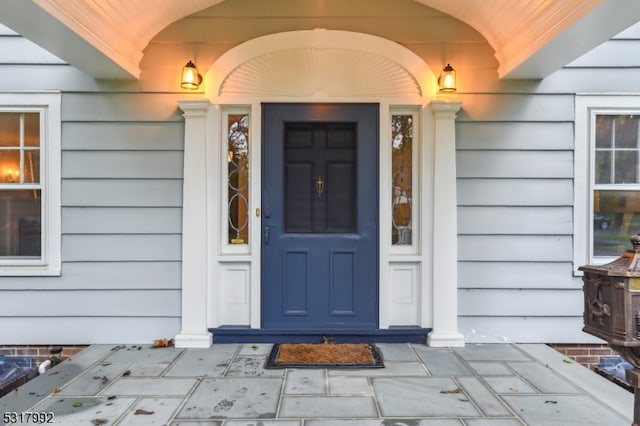
[{"label": "white column to the right of the front door", "polygon": [[462,102],[434,100],[433,347],[464,346],[458,331],[458,215],[456,199],[456,113]]}]

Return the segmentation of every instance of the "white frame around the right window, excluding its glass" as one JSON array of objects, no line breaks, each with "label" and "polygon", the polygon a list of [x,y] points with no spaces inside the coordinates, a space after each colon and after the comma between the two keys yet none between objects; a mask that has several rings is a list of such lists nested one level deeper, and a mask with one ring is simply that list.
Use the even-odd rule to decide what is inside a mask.
[{"label": "white frame around the right window, excluding its glass", "polygon": [[[573,269],[605,264],[616,258],[593,255],[593,191],[596,115],[640,115],[640,95],[576,95],[574,131]],[[611,185],[612,189],[639,190],[640,184]],[[629,246],[630,247],[630,246]],[[622,254],[622,253],[621,253]]]}]

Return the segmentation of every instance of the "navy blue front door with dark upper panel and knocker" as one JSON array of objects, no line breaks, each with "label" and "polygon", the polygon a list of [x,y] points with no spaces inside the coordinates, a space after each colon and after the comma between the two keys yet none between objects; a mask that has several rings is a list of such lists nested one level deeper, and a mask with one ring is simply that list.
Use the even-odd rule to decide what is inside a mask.
[{"label": "navy blue front door with dark upper panel and knocker", "polygon": [[263,104],[262,327],[378,327],[378,105]]}]

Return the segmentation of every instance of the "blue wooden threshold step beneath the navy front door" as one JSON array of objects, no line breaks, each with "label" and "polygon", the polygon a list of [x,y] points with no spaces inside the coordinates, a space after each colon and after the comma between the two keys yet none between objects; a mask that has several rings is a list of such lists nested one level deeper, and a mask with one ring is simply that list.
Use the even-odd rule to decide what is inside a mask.
[{"label": "blue wooden threshold step beneath the navy front door", "polygon": [[373,330],[258,329],[238,326],[210,328],[213,343],[420,343],[426,344],[430,328],[393,327]]}]

